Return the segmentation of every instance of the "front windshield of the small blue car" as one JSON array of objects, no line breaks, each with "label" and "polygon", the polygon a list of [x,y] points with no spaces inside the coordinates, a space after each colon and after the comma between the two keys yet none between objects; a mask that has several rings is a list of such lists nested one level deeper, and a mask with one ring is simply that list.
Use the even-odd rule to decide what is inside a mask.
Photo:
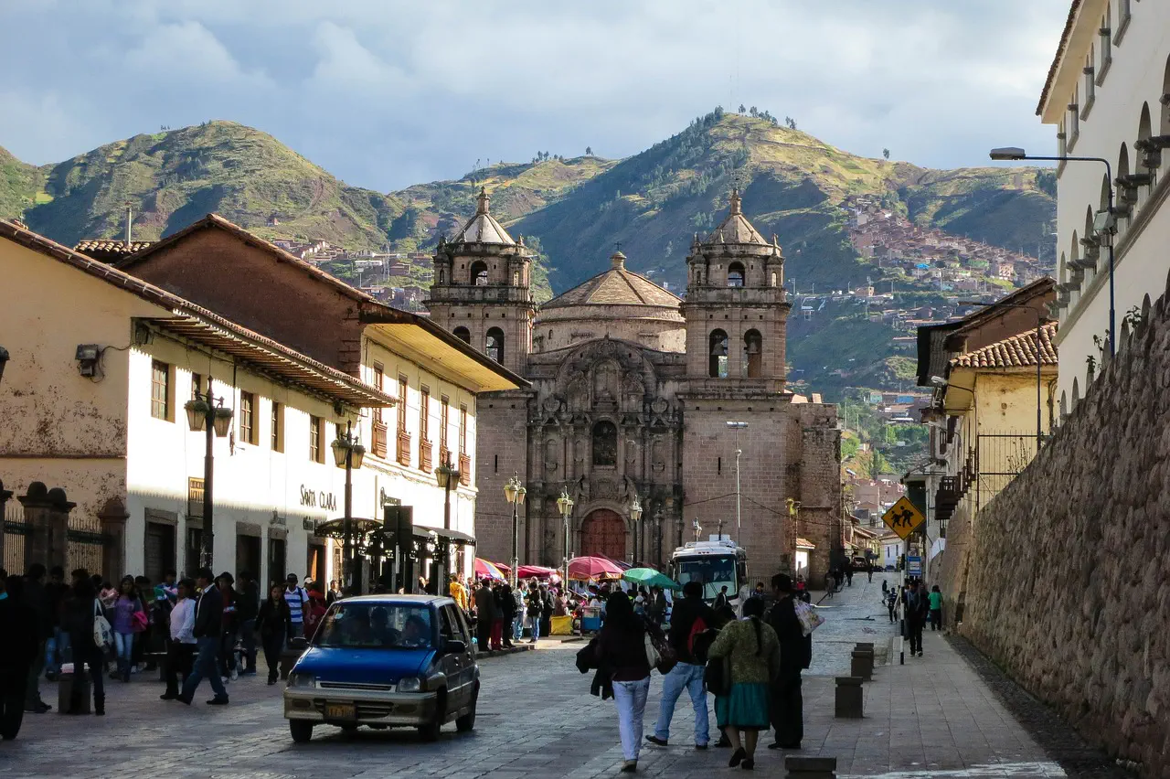
[{"label": "front windshield of the small blue car", "polygon": [[429,649],[433,626],[426,606],[339,601],[325,614],[317,647]]}]

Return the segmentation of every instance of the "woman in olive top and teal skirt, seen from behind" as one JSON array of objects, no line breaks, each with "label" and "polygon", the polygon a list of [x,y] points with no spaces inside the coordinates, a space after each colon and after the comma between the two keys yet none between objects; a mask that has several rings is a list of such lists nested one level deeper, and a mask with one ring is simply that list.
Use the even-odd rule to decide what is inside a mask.
[{"label": "woman in olive top and teal skirt, seen from behind", "polygon": [[756,767],[759,731],[769,728],[768,683],[780,663],[780,642],[763,615],[764,601],[749,598],[743,619],[725,625],[708,650],[708,657],[727,659],[731,671],[730,692],[715,698],[715,718],[735,749],[728,765],[748,771]]}]

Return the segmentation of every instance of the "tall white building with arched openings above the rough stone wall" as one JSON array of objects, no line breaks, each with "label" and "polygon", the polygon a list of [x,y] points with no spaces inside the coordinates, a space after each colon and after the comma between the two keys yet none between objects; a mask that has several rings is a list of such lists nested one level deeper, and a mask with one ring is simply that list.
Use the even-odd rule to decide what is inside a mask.
[{"label": "tall white building with arched openings above the rough stone wall", "polygon": [[[1071,413],[1109,357],[1109,242],[1117,349],[1134,317],[1166,289],[1170,219],[1170,6],[1074,0],[1037,113],[1055,125],[1058,156],[1058,397]],[[1113,228],[1106,227],[1110,188]],[[1170,213],[1170,212],[1168,212]],[[1097,222],[1094,225],[1094,222]]]}]

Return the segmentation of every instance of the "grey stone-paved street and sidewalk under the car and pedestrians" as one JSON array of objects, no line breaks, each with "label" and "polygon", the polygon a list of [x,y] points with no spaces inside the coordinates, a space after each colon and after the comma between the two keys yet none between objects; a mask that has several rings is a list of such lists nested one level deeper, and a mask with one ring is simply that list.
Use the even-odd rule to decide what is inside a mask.
[{"label": "grey stone-paved street and sidewalk under the car and pedestrians", "polygon": [[[847,673],[855,641],[888,648],[895,635],[879,598],[880,577],[824,601],[826,623],[817,630],[813,669],[805,681],[806,737],[803,754],[838,758],[838,777],[1064,777],[1000,704],[990,680],[980,678],[940,634],[925,634],[925,656],[906,666],[881,666],[866,690],[866,718],[833,718],[833,675]],[[870,621],[866,618],[873,616]],[[880,619],[878,619],[880,618]],[[621,764],[611,701],[589,694],[573,654],[584,644],[544,643],[537,652],[482,662],[483,692],[475,731],[422,744],[413,730],[359,730],[344,736],[316,729],[309,744],[292,744],[282,717],[280,687],[263,678],[229,685],[232,704],[211,708],[201,689],[190,709],[160,702],[154,675],[130,684],[109,683],[105,717],[27,715],[20,738],[0,745],[0,775],[212,777],[215,779],[331,779],[373,777],[617,775]],[[1009,683],[1010,684],[1010,683]],[[206,685],[204,685],[206,688]],[[647,732],[658,713],[658,674],[646,708]],[[56,703],[42,683],[42,696]],[[714,726],[714,715],[711,716]],[[693,713],[680,705],[667,749],[642,750],[639,774],[710,777],[727,771],[725,750],[696,752]],[[762,743],[771,739],[763,737]],[[783,754],[757,753],[757,771],[783,775]],[[1097,775],[1097,774],[1092,774]],[[1101,774],[1103,775],[1103,774]]]}]

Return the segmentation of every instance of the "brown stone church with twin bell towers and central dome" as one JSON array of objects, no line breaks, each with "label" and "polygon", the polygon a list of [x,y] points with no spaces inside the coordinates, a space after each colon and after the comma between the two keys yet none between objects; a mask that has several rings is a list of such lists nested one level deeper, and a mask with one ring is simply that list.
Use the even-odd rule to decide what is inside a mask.
[{"label": "brown stone church with twin bell towers and central dome", "polygon": [[[528,489],[521,563],[560,566],[567,531],[570,556],[665,566],[697,523],[703,539],[722,532],[748,550],[752,579],[793,572],[798,537],[815,545],[810,573],[824,574],[841,539],[837,409],[785,389],[784,255],[738,193],[691,243],[686,299],[626,269],[618,251],[607,270],[537,306],[534,257],[481,193],[434,258],[434,320],[531,381],[479,401],[479,556],[512,556],[503,485],[516,474]],[[576,504],[567,528],[562,490]]]}]

